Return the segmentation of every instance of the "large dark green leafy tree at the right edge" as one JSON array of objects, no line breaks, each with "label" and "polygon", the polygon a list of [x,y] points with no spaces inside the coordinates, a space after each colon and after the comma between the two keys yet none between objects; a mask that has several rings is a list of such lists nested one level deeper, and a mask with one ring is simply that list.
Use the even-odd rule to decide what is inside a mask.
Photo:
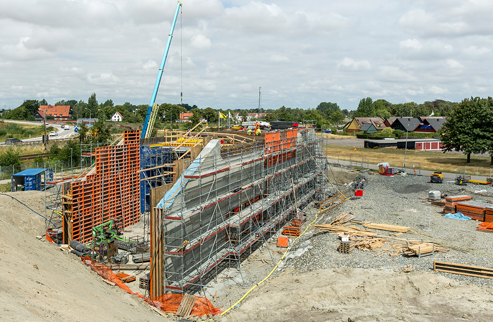
[{"label": "large dark green leafy tree at the right edge", "polygon": [[444,124],[442,145],[446,151],[462,151],[467,155],[466,163],[471,162],[472,153],[485,153],[492,150],[491,129],[485,122],[491,118],[491,97],[465,98],[448,116]]}]

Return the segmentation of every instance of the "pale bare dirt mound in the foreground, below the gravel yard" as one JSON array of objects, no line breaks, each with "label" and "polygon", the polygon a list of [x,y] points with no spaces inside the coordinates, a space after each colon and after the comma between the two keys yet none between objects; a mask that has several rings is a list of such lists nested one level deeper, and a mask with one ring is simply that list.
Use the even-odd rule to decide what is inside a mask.
[{"label": "pale bare dirt mound in the foreground, below the gravel yard", "polygon": [[423,271],[285,271],[226,321],[492,321],[492,291]]}]

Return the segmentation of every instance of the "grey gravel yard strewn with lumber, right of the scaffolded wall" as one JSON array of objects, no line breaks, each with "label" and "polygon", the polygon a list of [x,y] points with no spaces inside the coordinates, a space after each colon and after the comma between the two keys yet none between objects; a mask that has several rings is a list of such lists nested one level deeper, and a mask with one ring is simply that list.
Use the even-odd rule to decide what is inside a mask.
[{"label": "grey gravel yard strewn with lumber, right of the scaffolded wall", "polygon": [[[293,267],[297,272],[313,271],[321,268],[396,268],[407,265],[414,266],[415,270],[432,271],[433,261],[446,261],[474,266],[493,267],[493,234],[477,231],[479,222],[475,220],[459,221],[443,218],[443,208],[431,206],[430,230],[424,230],[426,206],[430,203],[420,198],[427,198],[428,191],[439,190],[448,195],[469,194],[473,200],[493,202],[493,187],[484,185],[457,186],[454,182],[431,184],[425,176],[382,176],[361,174],[366,180],[362,199],[348,200],[343,205],[324,214],[317,220],[317,224],[328,224],[342,212],[352,212],[358,219],[372,223],[385,223],[408,226],[411,230],[427,235],[412,232],[400,235],[399,238],[434,240],[445,246],[455,245],[467,249],[465,252],[451,249],[447,253],[435,253],[418,258],[417,256],[390,257],[376,256],[377,252],[355,249],[351,254],[341,254],[336,251],[339,245],[337,235],[323,233],[314,235],[318,229],[310,228],[293,247],[293,252],[306,241],[310,241],[309,248],[301,256],[289,259],[284,267]],[[486,190],[484,193],[473,193]],[[308,221],[315,218],[316,209],[311,207],[312,214]],[[364,228],[362,225],[355,225]],[[371,229],[370,229],[371,230]],[[375,230],[381,235],[392,232]],[[379,249],[377,249],[379,251]],[[473,283],[479,286],[491,286],[491,280],[468,277],[457,274],[445,274],[451,279],[463,283]]]}]

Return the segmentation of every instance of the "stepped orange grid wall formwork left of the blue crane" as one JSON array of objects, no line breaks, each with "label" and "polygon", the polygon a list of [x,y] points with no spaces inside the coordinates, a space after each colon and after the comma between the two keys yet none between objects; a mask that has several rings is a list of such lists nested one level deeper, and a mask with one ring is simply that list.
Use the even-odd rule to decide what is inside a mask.
[{"label": "stepped orange grid wall formwork left of the blue crane", "polygon": [[96,148],[87,175],[64,191],[64,243],[92,240],[92,228],[110,219],[124,227],[140,220],[140,131],[125,131],[123,144]]}]

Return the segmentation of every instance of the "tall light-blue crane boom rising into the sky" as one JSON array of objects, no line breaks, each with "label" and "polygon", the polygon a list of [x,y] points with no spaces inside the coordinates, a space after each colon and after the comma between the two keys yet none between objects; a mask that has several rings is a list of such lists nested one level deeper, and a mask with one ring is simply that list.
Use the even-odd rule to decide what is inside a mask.
[{"label": "tall light-blue crane boom rising into the sky", "polygon": [[175,31],[176,18],[178,17],[180,7],[181,2],[178,1],[178,3],[176,4],[175,17],[173,18],[170,34],[168,35],[168,42],[166,43],[163,59],[161,60],[161,65],[159,66],[159,71],[157,73],[156,83],[154,84],[154,91],[152,91],[151,101],[149,103],[149,106],[147,107],[147,114],[145,115],[144,124],[142,125],[141,138],[150,137],[152,128],[154,127],[154,121],[156,120],[157,111],[159,109],[159,105],[156,103],[157,91],[159,89],[159,84],[161,83],[161,77],[163,76],[164,64],[166,63],[168,51],[170,50],[171,39],[173,38],[173,32]]}]

